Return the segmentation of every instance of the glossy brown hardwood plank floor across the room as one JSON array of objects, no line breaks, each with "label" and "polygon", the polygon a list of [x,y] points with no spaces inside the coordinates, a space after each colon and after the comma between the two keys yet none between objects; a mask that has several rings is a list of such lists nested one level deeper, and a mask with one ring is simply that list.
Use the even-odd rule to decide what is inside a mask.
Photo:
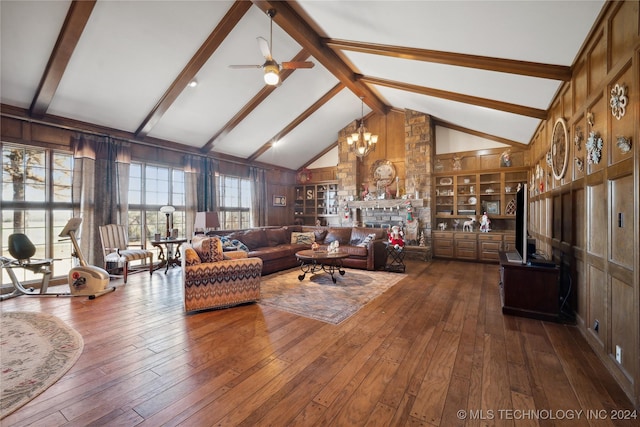
[{"label": "glossy brown hardwood plank floor across the room", "polygon": [[338,326],[260,304],[185,315],[180,268],[95,300],[4,301],[62,318],[85,347],[0,424],[640,424],[612,419],[633,407],[575,327],[502,315],[497,265],[407,272]]}]

